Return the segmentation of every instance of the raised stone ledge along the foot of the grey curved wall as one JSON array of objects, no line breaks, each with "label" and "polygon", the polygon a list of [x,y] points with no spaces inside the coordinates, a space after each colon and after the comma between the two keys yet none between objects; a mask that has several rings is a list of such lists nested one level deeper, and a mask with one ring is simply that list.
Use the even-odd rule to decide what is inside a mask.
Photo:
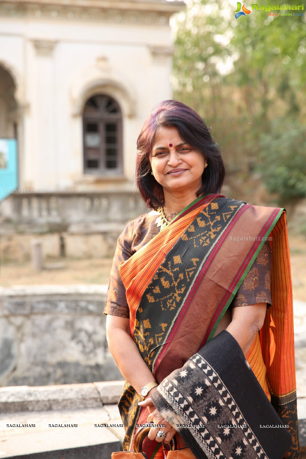
[{"label": "raised stone ledge along the foot of the grey curved wall", "polygon": [[124,381],[0,388],[0,412],[101,408],[117,403]]}]

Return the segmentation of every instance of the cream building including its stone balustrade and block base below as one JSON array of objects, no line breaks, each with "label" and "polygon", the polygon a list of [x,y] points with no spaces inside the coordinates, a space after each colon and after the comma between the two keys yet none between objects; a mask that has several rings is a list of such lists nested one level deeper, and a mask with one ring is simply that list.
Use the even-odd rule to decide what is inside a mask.
[{"label": "cream building including its stone balustrade and block base below", "polygon": [[[0,202],[4,259],[28,259],[35,232],[46,256],[110,255],[122,224],[144,210],[136,140],[172,96],[169,19],[183,6],[1,0],[0,139],[18,148],[18,192]],[[1,181],[3,157],[0,168]]]}]

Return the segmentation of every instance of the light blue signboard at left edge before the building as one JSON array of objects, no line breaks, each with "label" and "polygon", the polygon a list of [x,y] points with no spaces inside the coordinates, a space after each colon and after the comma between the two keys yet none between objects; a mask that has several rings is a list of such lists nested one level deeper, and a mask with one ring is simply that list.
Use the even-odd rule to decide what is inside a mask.
[{"label": "light blue signboard at left edge before the building", "polygon": [[0,139],[0,201],[18,186],[17,140]]}]

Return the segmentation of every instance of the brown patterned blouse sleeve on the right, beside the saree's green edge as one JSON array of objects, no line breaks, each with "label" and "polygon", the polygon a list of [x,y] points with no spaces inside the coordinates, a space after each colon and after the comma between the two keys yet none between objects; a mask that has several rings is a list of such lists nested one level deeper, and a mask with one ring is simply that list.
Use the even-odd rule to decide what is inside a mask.
[{"label": "brown patterned blouse sleeve on the right, beside the saree's green edge", "polygon": [[272,305],[270,285],[271,247],[267,241],[261,247],[229,308],[256,303],[267,303],[267,308],[269,308]]}]

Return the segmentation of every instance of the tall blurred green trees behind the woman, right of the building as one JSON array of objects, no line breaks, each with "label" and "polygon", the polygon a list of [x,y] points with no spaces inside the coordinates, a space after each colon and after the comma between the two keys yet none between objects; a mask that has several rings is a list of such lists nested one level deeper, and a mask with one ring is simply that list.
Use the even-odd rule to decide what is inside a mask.
[{"label": "tall blurred green trees behind the woman, right of the building", "polygon": [[[271,4],[267,0],[258,3]],[[212,127],[223,149],[229,182],[239,178],[243,185],[256,165],[268,160],[266,144],[258,141],[261,134],[272,143],[282,134],[295,159],[290,166],[279,156],[278,179],[284,179],[278,189],[271,184],[273,179],[265,174],[262,178],[268,190],[279,196],[304,196],[300,174],[305,143],[298,146],[292,139],[291,124],[278,133],[274,121],[295,118],[295,126],[306,121],[306,17],[272,17],[267,11],[251,11],[236,19],[235,9],[229,0],[188,0],[185,10],[178,13],[174,97],[192,106]],[[289,177],[287,185],[285,176]]]}]

